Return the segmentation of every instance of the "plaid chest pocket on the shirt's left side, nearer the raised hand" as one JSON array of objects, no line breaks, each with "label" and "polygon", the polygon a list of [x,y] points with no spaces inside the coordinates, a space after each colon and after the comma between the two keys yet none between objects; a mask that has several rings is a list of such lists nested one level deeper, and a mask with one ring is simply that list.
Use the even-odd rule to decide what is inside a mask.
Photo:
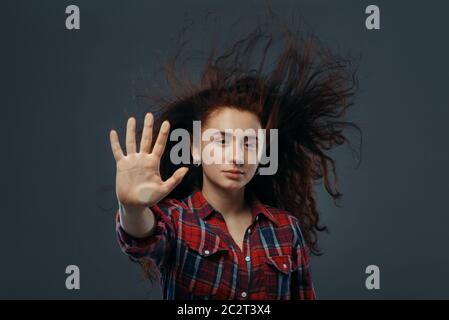
[{"label": "plaid chest pocket on the shirt's left side, nearer the raised hand", "polygon": [[228,249],[215,234],[206,232],[204,239],[186,239],[180,282],[194,298],[214,297],[223,280]]}]

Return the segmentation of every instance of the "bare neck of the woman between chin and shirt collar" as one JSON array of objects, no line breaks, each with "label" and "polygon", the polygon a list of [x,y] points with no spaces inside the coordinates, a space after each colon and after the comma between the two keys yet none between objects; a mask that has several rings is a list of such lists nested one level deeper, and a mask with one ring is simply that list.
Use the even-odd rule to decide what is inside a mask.
[{"label": "bare neck of the woman between chin and shirt collar", "polygon": [[223,215],[239,215],[246,209],[245,188],[224,190],[203,179],[202,193],[207,202]]}]

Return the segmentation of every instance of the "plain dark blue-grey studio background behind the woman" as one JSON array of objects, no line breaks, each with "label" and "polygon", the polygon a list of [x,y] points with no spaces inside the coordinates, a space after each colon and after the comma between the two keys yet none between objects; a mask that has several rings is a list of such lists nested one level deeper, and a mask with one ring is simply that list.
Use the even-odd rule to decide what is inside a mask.
[{"label": "plain dark blue-grey studio background behind the woman", "polygon": [[[364,26],[381,9],[381,30]],[[81,30],[65,29],[77,4]],[[321,299],[449,298],[446,124],[449,5],[443,1],[275,1],[337,52],[362,54],[350,117],[363,157],[335,152],[342,207],[318,187],[331,233],[312,260]],[[124,138],[135,99],[158,54],[173,48],[185,17],[251,25],[262,1],[8,1],[1,30],[0,298],[160,298],[118,247],[115,163],[108,132]],[[246,17],[246,18],[245,18]],[[203,41],[203,39],[200,39]],[[103,208],[103,209],[102,209]],[[65,289],[65,267],[81,290]],[[365,288],[365,267],[381,289]]]}]

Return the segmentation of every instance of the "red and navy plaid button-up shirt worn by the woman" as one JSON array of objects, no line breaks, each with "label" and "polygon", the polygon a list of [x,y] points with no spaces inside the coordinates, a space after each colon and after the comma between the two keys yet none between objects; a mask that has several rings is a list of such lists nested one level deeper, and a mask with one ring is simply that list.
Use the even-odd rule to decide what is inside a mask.
[{"label": "red and navy plaid button-up shirt worn by the woman", "polygon": [[298,219],[253,199],[243,249],[201,191],[152,206],[147,238],[128,235],[117,211],[118,242],[131,260],[157,266],[164,299],[315,299]]}]

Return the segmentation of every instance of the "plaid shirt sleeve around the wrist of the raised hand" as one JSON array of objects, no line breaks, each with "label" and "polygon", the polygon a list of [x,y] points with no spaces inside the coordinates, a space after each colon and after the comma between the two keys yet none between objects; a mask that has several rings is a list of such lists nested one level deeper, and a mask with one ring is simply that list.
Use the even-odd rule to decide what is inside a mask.
[{"label": "plaid shirt sleeve around the wrist of the raised hand", "polygon": [[126,233],[120,224],[122,209],[119,205],[116,214],[116,234],[121,250],[134,262],[143,264],[150,260],[160,269],[168,261],[175,241],[174,207],[160,204],[150,207],[156,226],[153,233],[146,238],[136,238]]}]

